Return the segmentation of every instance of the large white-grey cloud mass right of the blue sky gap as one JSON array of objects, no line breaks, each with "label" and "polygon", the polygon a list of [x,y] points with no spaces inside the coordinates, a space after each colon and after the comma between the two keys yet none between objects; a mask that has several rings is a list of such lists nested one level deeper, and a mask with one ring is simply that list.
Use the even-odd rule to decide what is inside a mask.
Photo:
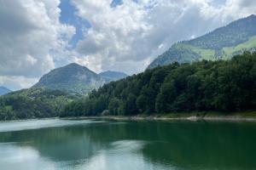
[{"label": "large white-grey cloud mass right of the blue sky gap", "polygon": [[110,0],[72,2],[91,26],[78,43],[76,60],[95,71],[130,74],[143,71],[173,42],[256,13],[253,0],[124,0],[115,8]]}]

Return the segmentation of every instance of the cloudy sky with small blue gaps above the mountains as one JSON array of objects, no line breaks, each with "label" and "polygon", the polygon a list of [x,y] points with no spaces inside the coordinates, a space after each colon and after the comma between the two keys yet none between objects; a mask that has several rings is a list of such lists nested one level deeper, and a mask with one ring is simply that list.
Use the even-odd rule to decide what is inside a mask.
[{"label": "cloudy sky with small blue gaps above the mountains", "polygon": [[69,63],[143,71],[172,43],[256,14],[255,0],[0,0],[0,86]]}]

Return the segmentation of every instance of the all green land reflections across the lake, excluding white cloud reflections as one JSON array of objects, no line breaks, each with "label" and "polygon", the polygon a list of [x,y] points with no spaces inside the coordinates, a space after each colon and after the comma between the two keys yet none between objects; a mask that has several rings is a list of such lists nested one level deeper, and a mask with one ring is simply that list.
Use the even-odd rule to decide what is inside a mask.
[{"label": "all green land reflections across the lake, excluding white cloud reflections", "polygon": [[54,161],[90,159],[114,141],[143,140],[147,161],[184,168],[256,167],[256,126],[227,122],[105,122],[1,133],[0,142],[34,147]]}]

